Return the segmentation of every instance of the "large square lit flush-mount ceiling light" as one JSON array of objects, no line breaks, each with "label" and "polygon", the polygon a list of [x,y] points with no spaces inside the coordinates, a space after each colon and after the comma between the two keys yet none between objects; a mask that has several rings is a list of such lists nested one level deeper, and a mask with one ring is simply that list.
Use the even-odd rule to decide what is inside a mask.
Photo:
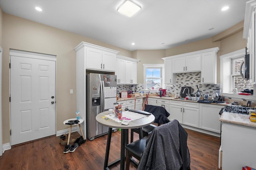
[{"label": "large square lit flush-mount ceiling light", "polygon": [[138,4],[135,4],[130,0],[126,0],[117,8],[117,11],[121,14],[131,17],[136,14],[140,9],[141,6],[139,6]]}]

